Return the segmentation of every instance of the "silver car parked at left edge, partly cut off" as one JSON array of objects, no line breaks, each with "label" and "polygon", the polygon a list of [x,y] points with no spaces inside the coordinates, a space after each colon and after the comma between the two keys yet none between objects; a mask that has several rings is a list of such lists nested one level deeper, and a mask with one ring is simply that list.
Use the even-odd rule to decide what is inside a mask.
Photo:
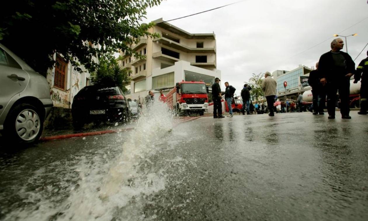
[{"label": "silver car parked at left edge, partly cut off", "polygon": [[0,43],[0,133],[21,143],[39,139],[53,104],[46,78]]}]

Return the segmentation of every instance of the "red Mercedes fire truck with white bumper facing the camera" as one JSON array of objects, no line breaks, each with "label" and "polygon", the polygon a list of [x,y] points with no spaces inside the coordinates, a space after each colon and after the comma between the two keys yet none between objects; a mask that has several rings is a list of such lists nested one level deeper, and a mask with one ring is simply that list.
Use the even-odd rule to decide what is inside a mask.
[{"label": "red Mercedes fire truck with white bumper facing the camera", "polygon": [[182,81],[166,94],[166,103],[178,114],[199,113],[208,109],[208,87],[203,81]]}]

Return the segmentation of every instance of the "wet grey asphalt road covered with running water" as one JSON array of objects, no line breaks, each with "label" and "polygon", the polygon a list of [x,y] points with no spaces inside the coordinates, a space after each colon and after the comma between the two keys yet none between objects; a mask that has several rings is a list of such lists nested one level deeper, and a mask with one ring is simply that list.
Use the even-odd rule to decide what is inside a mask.
[{"label": "wet grey asphalt road covered with running water", "polygon": [[0,219],[367,220],[368,116],[351,116],[142,121],[3,151]]}]

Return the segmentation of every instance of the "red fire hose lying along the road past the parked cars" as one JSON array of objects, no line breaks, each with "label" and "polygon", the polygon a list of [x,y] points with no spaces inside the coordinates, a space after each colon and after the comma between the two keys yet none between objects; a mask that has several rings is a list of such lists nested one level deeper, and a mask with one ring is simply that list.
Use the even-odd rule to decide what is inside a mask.
[{"label": "red fire hose lying along the road past the parked cars", "polygon": [[[179,120],[178,124],[179,123],[190,122],[192,120],[197,120],[200,117],[206,117],[206,116],[188,117],[189,119],[185,118],[183,120]],[[118,133],[118,132],[122,132],[122,131],[129,131],[129,130],[133,130],[133,129],[134,129],[134,127],[133,128],[119,129],[119,130],[102,130],[102,131],[92,131],[92,132],[86,132],[86,133],[56,135],[56,136],[49,136],[49,137],[41,137],[40,141],[61,140],[61,139],[67,139],[67,138],[72,138],[72,137],[96,136],[96,135],[102,135],[102,134],[111,134],[111,133]]]}]

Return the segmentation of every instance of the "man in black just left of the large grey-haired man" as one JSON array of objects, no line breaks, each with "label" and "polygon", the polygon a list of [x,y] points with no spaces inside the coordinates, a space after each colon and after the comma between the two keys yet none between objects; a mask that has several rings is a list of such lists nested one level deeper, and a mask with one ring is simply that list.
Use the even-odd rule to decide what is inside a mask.
[{"label": "man in black just left of the large grey-haired man", "polygon": [[308,83],[312,87],[312,96],[313,96],[313,114],[317,115],[324,114],[323,109],[325,108],[326,103],[326,92],[325,88],[322,86],[321,75],[318,71],[318,62],[316,63],[316,70],[311,71],[309,73]]}]

